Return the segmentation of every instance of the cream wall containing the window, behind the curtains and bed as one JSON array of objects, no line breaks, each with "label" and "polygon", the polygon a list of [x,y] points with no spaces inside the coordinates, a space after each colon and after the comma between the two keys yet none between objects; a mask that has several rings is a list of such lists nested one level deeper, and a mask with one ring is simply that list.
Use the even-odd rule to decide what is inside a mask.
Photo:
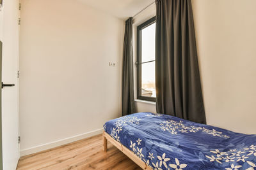
[{"label": "cream wall containing the window, behind the curtains and bed", "polygon": [[[256,1],[192,3],[207,124],[256,134]],[[152,13],[154,7],[134,20],[145,21]],[[156,112],[152,103],[139,101],[136,107]]]}]

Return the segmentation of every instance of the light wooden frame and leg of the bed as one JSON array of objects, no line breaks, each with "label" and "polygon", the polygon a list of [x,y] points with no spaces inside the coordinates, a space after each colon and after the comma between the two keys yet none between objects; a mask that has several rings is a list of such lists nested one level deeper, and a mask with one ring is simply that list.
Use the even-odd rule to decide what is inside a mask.
[{"label": "light wooden frame and leg of the bed", "polygon": [[111,142],[116,148],[118,148],[120,151],[122,151],[129,159],[133,160],[138,166],[140,166],[142,169],[148,169],[152,170],[150,166],[147,166],[143,160],[141,160],[135,153],[133,153],[131,150],[126,148],[122,143],[119,143],[115,139],[113,139],[107,132],[103,131],[102,134],[103,137],[103,150],[104,152],[107,152],[108,150],[108,141]]}]

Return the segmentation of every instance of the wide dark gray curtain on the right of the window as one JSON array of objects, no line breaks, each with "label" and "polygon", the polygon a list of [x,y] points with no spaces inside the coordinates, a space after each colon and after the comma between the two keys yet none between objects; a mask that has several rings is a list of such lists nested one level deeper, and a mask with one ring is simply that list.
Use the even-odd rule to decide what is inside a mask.
[{"label": "wide dark gray curtain on the right of the window", "polygon": [[205,124],[190,0],[156,0],[157,113]]}]

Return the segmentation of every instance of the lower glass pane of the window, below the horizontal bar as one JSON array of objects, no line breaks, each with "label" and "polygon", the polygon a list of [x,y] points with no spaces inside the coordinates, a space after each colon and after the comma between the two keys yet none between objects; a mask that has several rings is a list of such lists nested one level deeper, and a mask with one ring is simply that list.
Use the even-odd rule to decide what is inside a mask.
[{"label": "lower glass pane of the window, below the horizontal bar", "polygon": [[156,97],[155,62],[141,64],[141,96]]}]

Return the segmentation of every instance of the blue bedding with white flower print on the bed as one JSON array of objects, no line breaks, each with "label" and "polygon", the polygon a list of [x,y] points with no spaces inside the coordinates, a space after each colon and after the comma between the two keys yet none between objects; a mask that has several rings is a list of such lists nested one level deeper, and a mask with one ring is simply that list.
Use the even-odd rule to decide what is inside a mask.
[{"label": "blue bedding with white flower print on the bed", "polygon": [[152,169],[256,169],[256,135],[154,113],[110,120],[104,131]]}]

